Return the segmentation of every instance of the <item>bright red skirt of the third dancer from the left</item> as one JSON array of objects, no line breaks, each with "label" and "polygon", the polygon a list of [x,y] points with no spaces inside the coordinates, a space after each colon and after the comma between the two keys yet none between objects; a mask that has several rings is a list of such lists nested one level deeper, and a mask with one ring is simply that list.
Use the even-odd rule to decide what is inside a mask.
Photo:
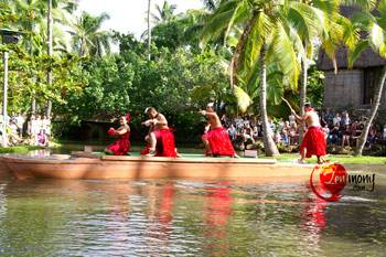
[{"label": "bright red skirt of the third dancer from the left", "polygon": [[202,136],[210,142],[212,156],[214,157],[234,157],[236,154],[228,132],[224,128],[215,128]]}]

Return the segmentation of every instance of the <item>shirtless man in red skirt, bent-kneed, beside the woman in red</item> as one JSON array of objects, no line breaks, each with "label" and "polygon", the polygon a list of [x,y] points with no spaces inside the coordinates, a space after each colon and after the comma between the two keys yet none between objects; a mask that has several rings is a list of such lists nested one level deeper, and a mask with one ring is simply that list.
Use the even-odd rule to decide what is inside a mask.
[{"label": "shirtless man in red skirt, bent-kneed, beside the woman in red", "polygon": [[167,118],[157,111],[153,107],[146,108],[144,113],[149,119],[142,125],[150,127],[149,135],[146,137],[148,141],[147,157],[178,157],[174,143],[174,135],[168,127]]}]

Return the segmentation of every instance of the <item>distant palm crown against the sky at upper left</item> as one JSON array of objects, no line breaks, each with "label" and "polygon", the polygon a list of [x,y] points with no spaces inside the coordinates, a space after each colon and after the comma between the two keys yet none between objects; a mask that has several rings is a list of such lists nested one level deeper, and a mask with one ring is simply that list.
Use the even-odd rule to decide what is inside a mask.
[{"label": "distant palm crown against the sky at upper left", "polygon": [[93,17],[86,12],[72,24],[73,47],[81,55],[101,56],[110,52],[110,33],[101,31],[101,24],[109,19],[107,13]]}]

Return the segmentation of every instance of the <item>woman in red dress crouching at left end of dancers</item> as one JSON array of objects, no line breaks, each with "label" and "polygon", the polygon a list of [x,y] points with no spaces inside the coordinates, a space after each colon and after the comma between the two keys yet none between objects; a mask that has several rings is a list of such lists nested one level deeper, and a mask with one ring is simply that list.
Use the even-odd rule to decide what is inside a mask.
[{"label": "woman in red dress crouching at left end of dancers", "polygon": [[128,154],[128,152],[130,151],[130,127],[128,125],[130,122],[130,114],[127,114],[126,116],[120,117],[120,127],[118,129],[110,128],[108,130],[108,135],[118,136],[119,140],[108,146],[105,149],[106,153],[114,156]]}]

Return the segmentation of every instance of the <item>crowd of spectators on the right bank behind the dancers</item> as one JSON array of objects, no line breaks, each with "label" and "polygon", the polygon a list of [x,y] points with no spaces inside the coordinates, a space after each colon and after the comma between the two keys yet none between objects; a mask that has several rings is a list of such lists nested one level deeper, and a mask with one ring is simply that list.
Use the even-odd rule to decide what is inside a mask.
[{"label": "crowd of spectators on the right bank behind the dancers", "polygon": [[[341,146],[342,148],[356,147],[357,139],[364,129],[364,117],[352,118],[349,111],[337,113],[330,109],[322,110],[319,113],[319,116],[329,146]],[[247,144],[254,144],[259,139],[262,139],[264,128],[257,116],[237,117],[234,119],[223,116],[222,121],[227,128],[234,144],[242,149]],[[301,128],[293,115],[290,115],[287,120],[268,119],[268,133],[276,143],[282,146],[299,144]],[[378,140],[386,140],[386,125],[379,127],[373,124],[368,132],[366,147],[371,147]]]}]

